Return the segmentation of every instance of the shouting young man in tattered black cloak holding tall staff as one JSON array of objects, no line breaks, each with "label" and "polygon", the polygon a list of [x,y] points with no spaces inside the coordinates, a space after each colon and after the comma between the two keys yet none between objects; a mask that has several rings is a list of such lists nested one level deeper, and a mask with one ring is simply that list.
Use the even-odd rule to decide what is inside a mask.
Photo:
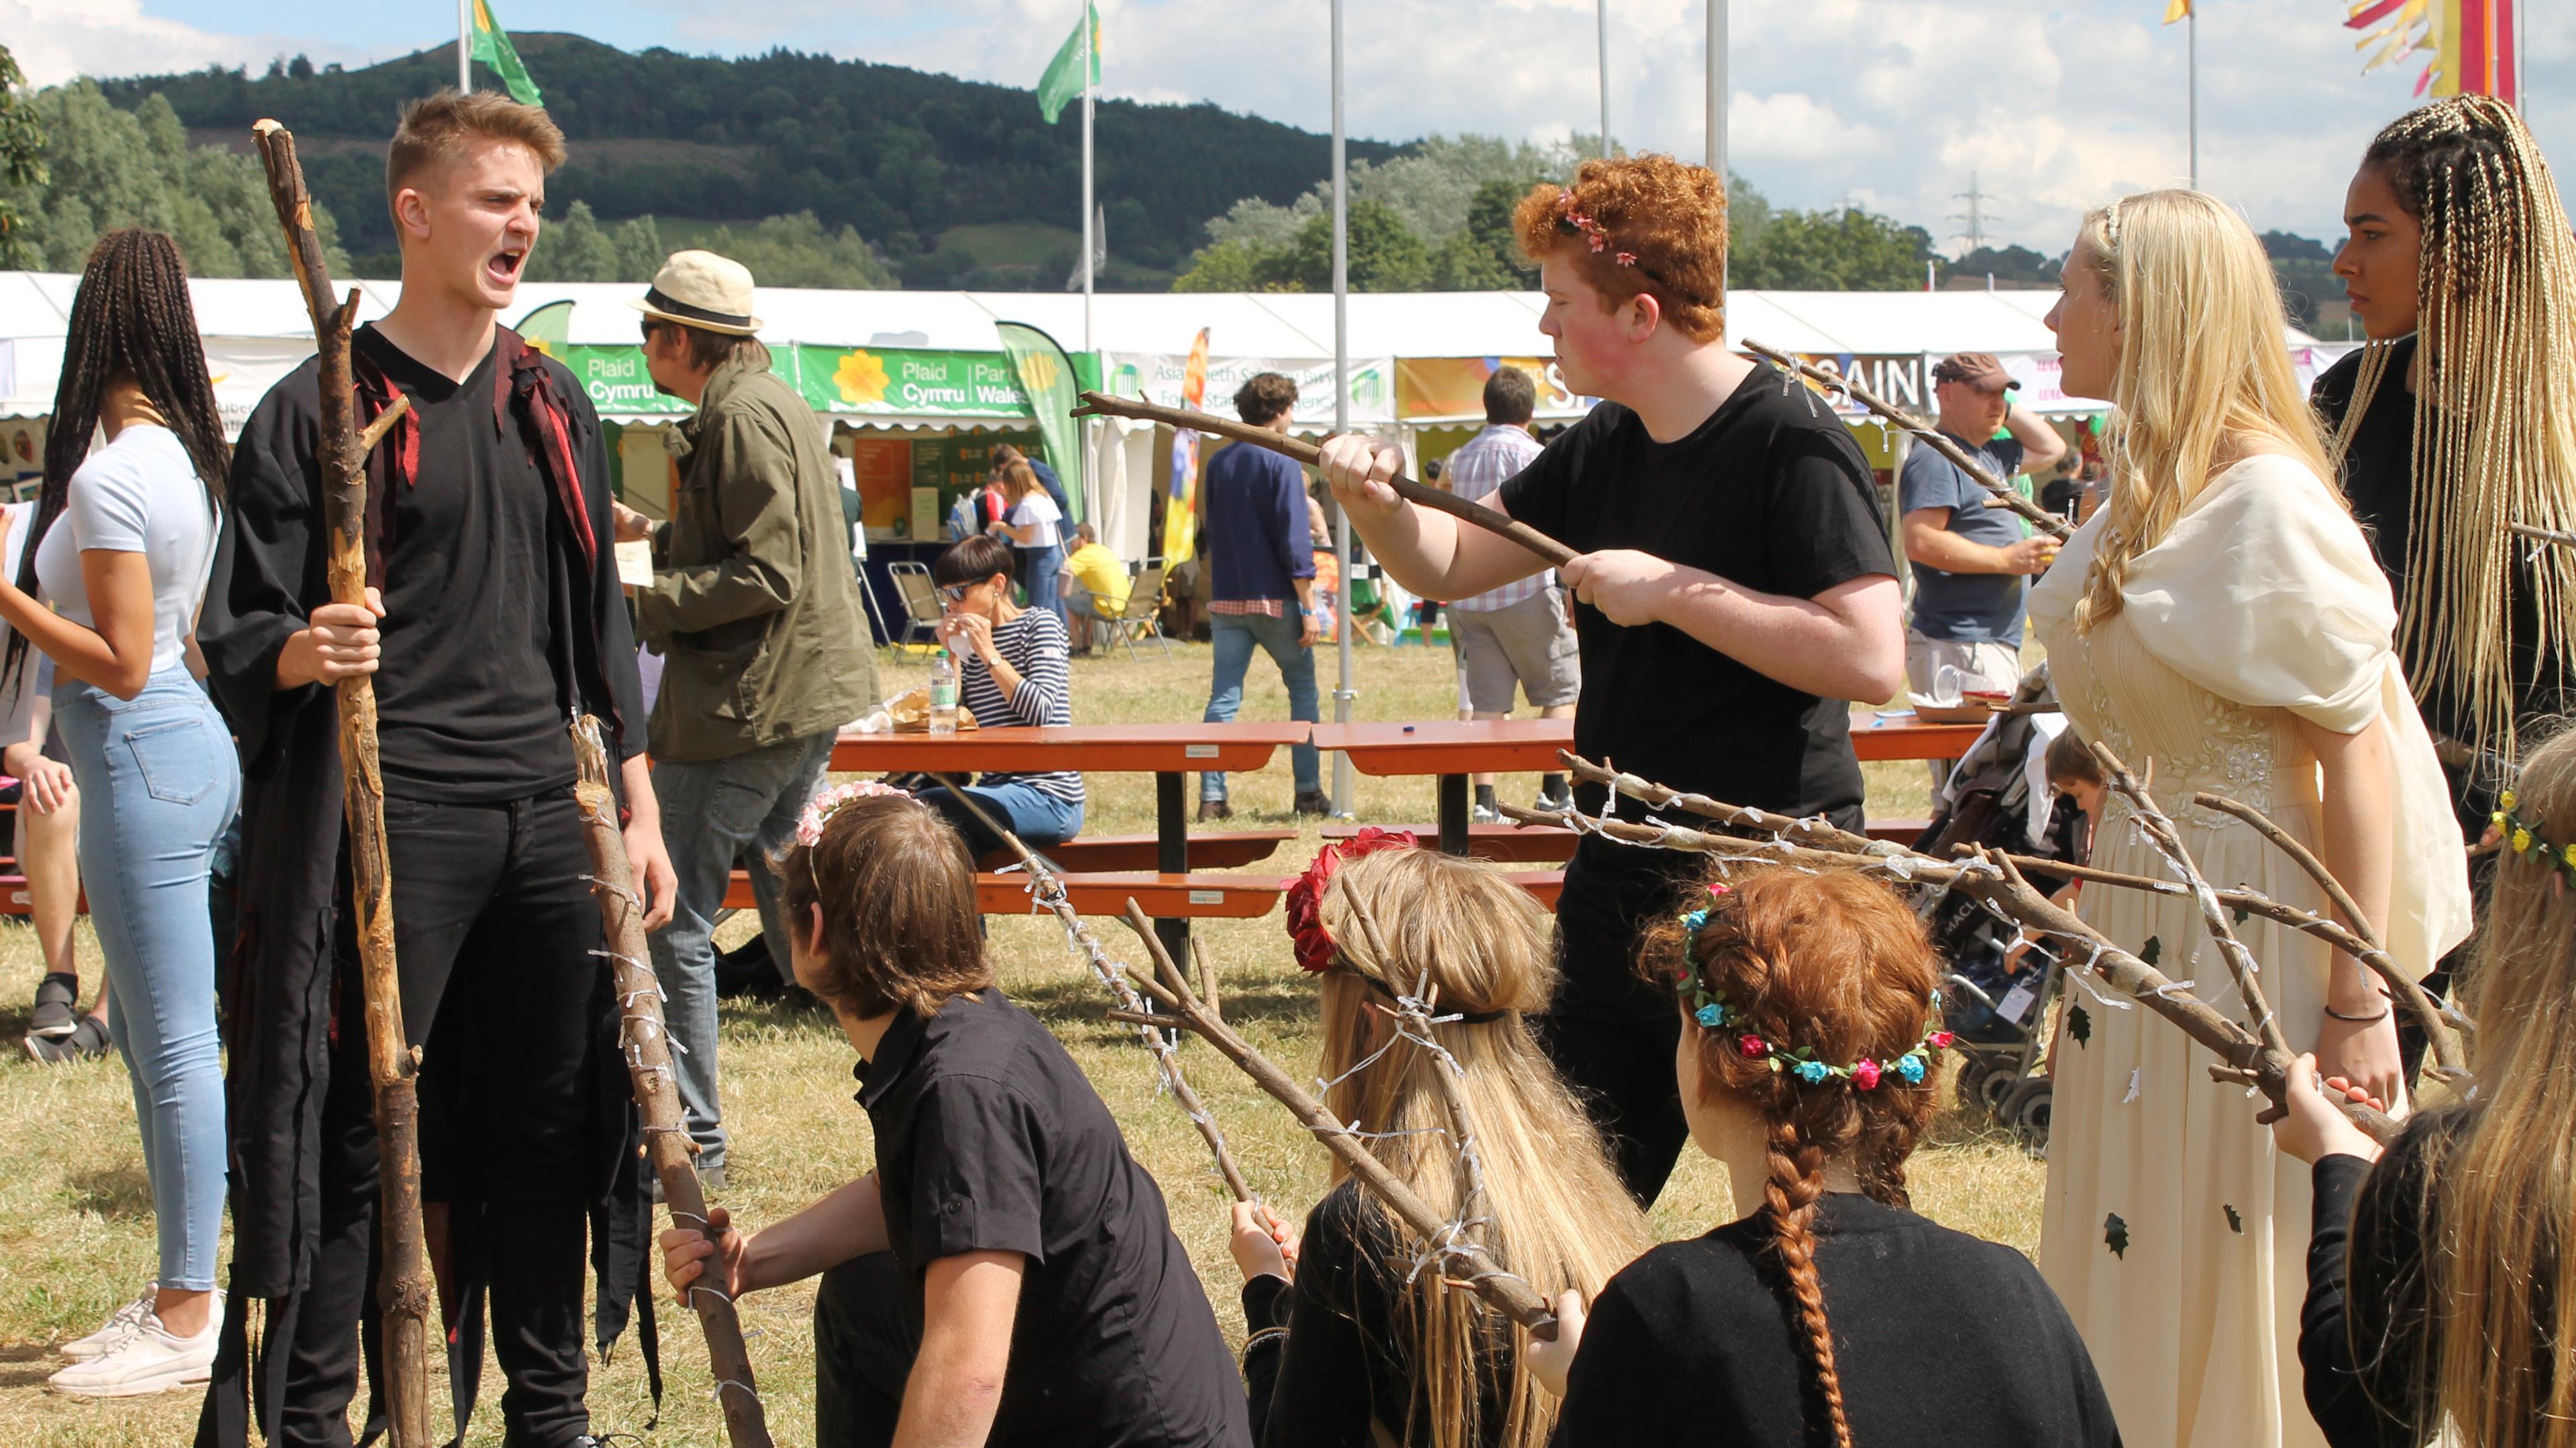
[{"label": "shouting young man in tattered black cloak holding tall staff", "polygon": [[[245,765],[232,1293],[268,1299],[268,1342],[245,1358],[247,1314],[232,1311],[201,1440],[242,1438],[258,1360],[268,1443],[350,1443],[379,1152],[332,685],[374,675],[433,1247],[451,1244],[451,1288],[492,1288],[505,1443],[590,1443],[585,1226],[641,1196],[572,801],[574,714],[595,714],[623,760],[649,925],[670,917],[672,876],[600,423],[569,371],[497,322],[562,160],[554,121],[500,95],[433,95],[394,131],[402,304],[358,330],[353,363],[361,420],[397,394],[412,415],[368,459],[368,605],[325,587],[314,363],[270,389],[234,453],[198,642]],[[623,1291],[603,1288],[603,1324],[623,1319]]]}]

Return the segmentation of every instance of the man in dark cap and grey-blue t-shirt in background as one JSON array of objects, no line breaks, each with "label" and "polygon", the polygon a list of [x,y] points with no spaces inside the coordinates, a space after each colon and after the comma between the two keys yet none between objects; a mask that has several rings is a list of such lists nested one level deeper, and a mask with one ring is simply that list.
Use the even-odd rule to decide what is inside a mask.
[{"label": "man in dark cap and grey-blue t-shirt in background", "polygon": [[[2066,453],[2048,423],[2012,402],[2022,384],[1991,353],[1942,358],[1932,384],[1940,430],[1994,477],[2048,469]],[[2030,536],[2012,513],[1986,508],[1986,497],[1937,451],[1917,443],[1906,453],[1896,502],[1914,564],[1906,685],[1917,696],[1937,696],[1945,665],[1960,691],[2009,691],[2022,680],[2022,580],[2048,569],[2056,541]],[[1937,788],[1947,768],[1935,760],[1932,773]]]}]

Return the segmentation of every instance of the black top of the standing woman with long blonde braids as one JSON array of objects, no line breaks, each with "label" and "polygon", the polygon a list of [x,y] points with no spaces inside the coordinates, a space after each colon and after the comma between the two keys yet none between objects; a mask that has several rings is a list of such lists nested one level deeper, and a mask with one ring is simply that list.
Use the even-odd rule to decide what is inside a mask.
[{"label": "black top of the standing woman with long blonde braids", "polygon": [[[2406,554],[2414,546],[2414,410],[2416,394],[2406,386],[2406,371],[2414,363],[2416,340],[2406,338],[2396,343],[2388,353],[2388,371],[2380,376],[2378,392],[2370,394],[2370,410],[2362,412],[2360,425],[2352,433],[2352,443],[2344,451],[2344,497],[2352,502],[2354,520],[2362,523],[2362,533],[2370,538],[2370,551],[2380,562],[2380,572],[2388,575],[2388,587],[2396,593],[2398,608],[2409,608],[2409,567]],[[2360,381],[2362,353],[2349,353],[2344,361],[2326,368],[2316,379],[2311,392],[2318,415],[2326,420],[2326,430],[2342,425],[2344,412],[2352,407],[2352,389]],[[2514,716],[2530,721],[2535,716],[2553,716],[2568,709],[2568,667],[2566,657],[2543,660],[2535,639],[2540,639],[2540,608],[2532,587],[2532,567],[2522,557],[2524,546],[2514,546],[2514,575],[2512,575],[2512,649],[2514,649]],[[2403,629],[2398,629],[2403,636]],[[2416,691],[2416,703],[2424,714],[2424,727],[2434,734],[2445,734],[2458,742],[2476,742],[2476,732],[2468,724],[2468,706],[2455,688],[2437,685],[2414,660],[2406,660],[2406,683]],[[2458,778],[2455,778],[2458,783]],[[2483,796],[2470,801],[2463,814],[2470,837],[2486,824]]]}]

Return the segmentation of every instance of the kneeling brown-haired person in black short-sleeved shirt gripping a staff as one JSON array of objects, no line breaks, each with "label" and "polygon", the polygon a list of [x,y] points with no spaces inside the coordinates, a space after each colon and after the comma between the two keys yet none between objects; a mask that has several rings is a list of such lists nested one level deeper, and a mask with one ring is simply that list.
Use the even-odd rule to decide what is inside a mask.
[{"label": "kneeling brown-haired person in black short-sleeved shirt gripping a staff", "polygon": [[683,1304],[822,1278],[817,1448],[1249,1443],[1162,1190],[994,987],[956,832],[891,786],[832,786],[778,879],[796,982],[860,1054],[876,1167],[750,1237],[724,1208],[665,1232]]}]

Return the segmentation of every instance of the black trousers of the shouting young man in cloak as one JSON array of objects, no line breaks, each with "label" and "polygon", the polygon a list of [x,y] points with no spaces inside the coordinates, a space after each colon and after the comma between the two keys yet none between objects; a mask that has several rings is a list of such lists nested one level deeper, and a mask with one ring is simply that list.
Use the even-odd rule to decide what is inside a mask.
[{"label": "black trousers of the shouting young man in cloak", "polygon": [[[422,1177],[482,1183],[492,1355],[510,1448],[590,1433],[587,1196],[598,1144],[600,907],[572,788],[507,804],[386,799],[402,1028],[422,1051]],[[281,1443],[345,1448],[376,1286],[376,1116],[350,910],[322,1103],[322,1250],[286,1366]],[[471,1059],[466,1043],[471,1041]]]}]

